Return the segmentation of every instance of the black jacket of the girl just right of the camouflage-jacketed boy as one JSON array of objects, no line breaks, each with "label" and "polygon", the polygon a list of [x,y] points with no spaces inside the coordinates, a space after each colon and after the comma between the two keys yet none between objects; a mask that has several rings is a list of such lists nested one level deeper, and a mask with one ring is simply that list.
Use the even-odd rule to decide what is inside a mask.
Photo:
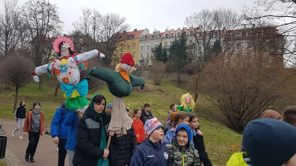
[{"label": "black jacket of the girl just right of the camouflage-jacketed boy", "polygon": [[192,135],[192,139],[194,142],[194,148],[198,151],[198,155],[200,156],[200,162],[202,162],[205,166],[213,166],[211,160],[207,155],[207,152],[205,151],[205,143],[203,141],[203,136],[195,134],[195,136]]}]

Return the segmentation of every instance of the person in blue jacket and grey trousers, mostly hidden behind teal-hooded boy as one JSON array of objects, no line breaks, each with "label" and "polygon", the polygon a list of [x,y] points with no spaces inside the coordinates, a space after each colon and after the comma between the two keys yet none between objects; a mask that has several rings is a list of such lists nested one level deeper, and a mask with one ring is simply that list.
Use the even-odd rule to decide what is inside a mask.
[{"label": "person in blue jacket and grey trousers, mostly hidden behind teal-hooded boy", "polygon": [[[89,100],[89,102],[91,101],[89,97],[86,97],[86,98]],[[67,149],[68,151],[69,166],[73,166],[72,160],[73,160],[74,148],[76,144],[76,131],[77,131],[78,121],[79,121],[78,112],[73,110],[73,111],[70,111],[70,113],[68,113],[63,123],[64,126],[70,126],[70,132],[69,132],[66,147],[65,147],[65,149]]]}]

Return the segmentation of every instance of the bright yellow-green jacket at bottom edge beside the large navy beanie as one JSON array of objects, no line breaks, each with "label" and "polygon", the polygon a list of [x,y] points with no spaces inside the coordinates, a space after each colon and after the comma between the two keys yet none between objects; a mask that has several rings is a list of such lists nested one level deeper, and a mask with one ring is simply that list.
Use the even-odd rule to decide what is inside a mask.
[{"label": "bright yellow-green jacket at bottom edge beside the large navy beanie", "polygon": [[[244,159],[248,162],[248,164]],[[241,152],[232,154],[226,166],[252,166],[251,164],[252,163],[250,162],[247,153]]]}]

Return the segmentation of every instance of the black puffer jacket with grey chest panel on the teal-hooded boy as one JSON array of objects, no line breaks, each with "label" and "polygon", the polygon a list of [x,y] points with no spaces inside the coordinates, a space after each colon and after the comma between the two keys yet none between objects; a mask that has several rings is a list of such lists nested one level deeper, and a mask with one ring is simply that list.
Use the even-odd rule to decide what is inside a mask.
[{"label": "black puffer jacket with grey chest panel on the teal-hooded boy", "polygon": [[[105,131],[108,129],[111,116],[105,111],[103,115],[103,124]],[[74,149],[74,166],[97,166],[99,158],[104,155],[104,150],[100,149],[102,126],[101,118],[96,118],[88,107],[83,116],[79,119],[76,132],[76,144]],[[107,133],[107,132],[106,132]],[[109,135],[107,133],[107,141]],[[109,165],[112,165],[112,157],[109,154]]]}]

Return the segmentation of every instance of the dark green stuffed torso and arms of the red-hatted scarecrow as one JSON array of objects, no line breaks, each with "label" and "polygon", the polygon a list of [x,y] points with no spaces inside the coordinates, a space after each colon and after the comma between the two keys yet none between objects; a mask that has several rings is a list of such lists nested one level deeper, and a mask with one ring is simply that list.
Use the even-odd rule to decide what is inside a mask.
[{"label": "dark green stuffed torso and arms of the red-hatted scarecrow", "polygon": [[126,97],[131,94],[132,87],[141,86],[144,88],[145,79],[128,75],[130,82],[127,82],[117,71],[94,67],[84,78],[90,80],[90,76],[96,77],[107,83],[110,93],[116,97]]}]

